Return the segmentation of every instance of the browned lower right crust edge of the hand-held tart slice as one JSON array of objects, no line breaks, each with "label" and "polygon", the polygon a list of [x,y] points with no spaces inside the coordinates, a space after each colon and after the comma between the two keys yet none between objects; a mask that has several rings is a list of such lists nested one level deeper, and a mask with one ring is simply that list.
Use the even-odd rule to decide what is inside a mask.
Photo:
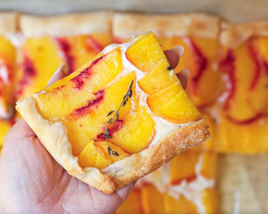
[{"label": "browned lower right crust edge of the hand-held tart slice", "polygon": [[163,137],[157,144],[141,152],[125,157],[100,169],[118,181],[121,188],[161,167],[180,152],[197,146],[210,138],[204,119],[181,127]]}]

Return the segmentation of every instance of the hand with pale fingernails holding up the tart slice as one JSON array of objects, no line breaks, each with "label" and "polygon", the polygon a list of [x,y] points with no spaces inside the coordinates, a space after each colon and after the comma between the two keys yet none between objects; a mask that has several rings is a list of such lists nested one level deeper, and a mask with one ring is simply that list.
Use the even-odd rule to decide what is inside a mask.
[{"label": "hand with pale fingernails holding up the tart slice", "polygon": [[[182,53],[181,46],[165,51],[173,68]],[[48,84],[66,73],[67,66],[61,66]],[[189,71],[177,76],[186,88]],[[114,213],[134,185],[107,195],[72,177],[22,118],[5,137],[0,155],[0,213]]]}]

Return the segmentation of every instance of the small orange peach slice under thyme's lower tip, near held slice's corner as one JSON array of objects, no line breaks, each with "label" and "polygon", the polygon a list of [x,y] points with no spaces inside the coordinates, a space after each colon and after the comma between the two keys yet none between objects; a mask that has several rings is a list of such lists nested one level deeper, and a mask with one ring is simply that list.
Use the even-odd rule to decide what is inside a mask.
[{"label": "small orange peach slice under thyme's lower tip, near held slice's corner", "polygon": [[124,151],[121,147],[116,146],[113,143],[109,143],[108,145],[111,148],[112,151],[116,151],[119,156],[114,156],[114,155],[109,155],[108,151],[107,151],[107,144],[106,141],[94,141],[93,142],[94,146],[97,148],[97,150],[99,151],[99,153],[110,163],[114,163],[116,161],[121,160],[124,157],[130,156],[131,154],[127,153],[126,151]]}]

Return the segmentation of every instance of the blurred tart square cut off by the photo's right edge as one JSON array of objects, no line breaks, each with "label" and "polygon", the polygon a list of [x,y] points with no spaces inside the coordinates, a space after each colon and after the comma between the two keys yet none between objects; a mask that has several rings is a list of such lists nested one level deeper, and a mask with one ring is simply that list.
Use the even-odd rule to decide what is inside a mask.
[{"label": "blurred tart square cut off by the photo's right edge", "polygon": [[226,87],[219,98],[219,152],[268,151],[267,27],[267,21],[222,23],[220,67]]}]

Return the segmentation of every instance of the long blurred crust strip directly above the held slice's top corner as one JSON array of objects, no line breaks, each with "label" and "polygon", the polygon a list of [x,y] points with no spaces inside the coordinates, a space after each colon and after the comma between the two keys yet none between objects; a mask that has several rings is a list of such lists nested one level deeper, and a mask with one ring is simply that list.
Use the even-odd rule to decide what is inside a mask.
[{"label": "long blurred crust strip directly above the held slice's top corner", "polygon": [[202,14],[135,14],[115,13],[113,34],[118,38],[131,38],[153,31],[157,37],[196,36],[217,39],[219,17]]}]

